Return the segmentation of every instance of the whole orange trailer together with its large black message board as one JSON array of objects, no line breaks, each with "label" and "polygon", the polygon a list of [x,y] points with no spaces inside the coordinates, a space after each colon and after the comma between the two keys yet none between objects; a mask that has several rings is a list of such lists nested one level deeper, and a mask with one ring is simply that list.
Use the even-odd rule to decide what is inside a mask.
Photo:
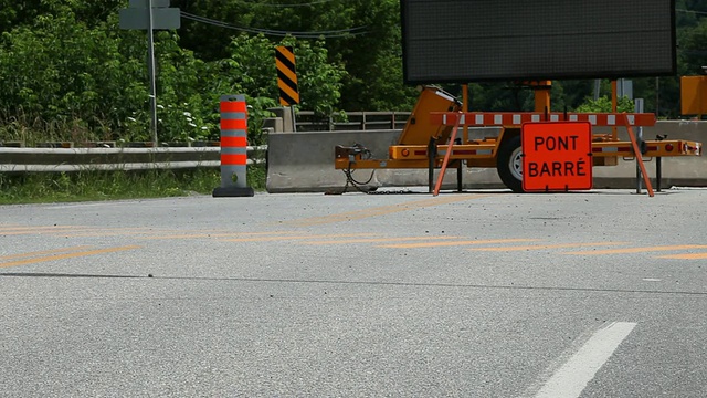
[{"label": "whole orange trailer together with its large black message board", "polygon": [[[525,192],[524,175],[544,171],[523,168],[521,127],[530,122],[612,127],[612,134],[591,133],[587,170],[589,164],[615,166],[620,158],[642,164],[643,157],[701,155],[701,144],[696,142],[656,139],[636,145],[635,139],[619,139],[616,127],[625,127],[631,136],[633,126],[653,126],[653,114],[552,113],[550,106],[551,80],[674,75],[675,0],[400,0],[400,4],[404,82],[463,84],[463,102],[437,87],[423,86],[388,158],[372,158],[365,143],[336,146],[335,167],[346,174],[345,187],[357,185],[351,176],[355,169],[426,168],[432,192],[434,170],[449,166],[457,168],[461,189],[460,176],[466,166],[496,168],[506,187]],[[466,85],[493,81],[532,87],[535,112],[466,112]],[[455,137],[458,127],[461,137]],[[495,127],[498,133],[471,138],[467,127]],[[556,169],[550,166],[551,174]],[[577,170],[574,165],[572,171]],[[526,185],[535,188],[532,182]],[[583,186],[591,187],[587,181]]]}]

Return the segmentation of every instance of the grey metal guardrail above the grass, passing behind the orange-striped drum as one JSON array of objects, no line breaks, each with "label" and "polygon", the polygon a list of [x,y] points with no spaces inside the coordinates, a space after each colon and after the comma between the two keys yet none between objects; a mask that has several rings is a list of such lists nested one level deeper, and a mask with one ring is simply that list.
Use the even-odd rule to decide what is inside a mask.
[{"label": "grey metal guardrail above the grass, passing behind the orange-striped drum", "polygon": [[[13,148],[0,147],[0,172],[147,170],[219,167],[219,147]],[[266,161],[267,146],[249,146],[249,165]]]}]

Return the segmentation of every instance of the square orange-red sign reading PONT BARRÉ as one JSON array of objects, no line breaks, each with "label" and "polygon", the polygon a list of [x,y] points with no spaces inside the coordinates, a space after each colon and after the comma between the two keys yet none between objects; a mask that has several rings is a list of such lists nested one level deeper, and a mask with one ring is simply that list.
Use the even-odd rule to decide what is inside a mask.
[{"label": "square orange-red sign reading PONT BARR\u00c9", "polygon": [[526,123],[520,130],[523,189],[592,189],[592,127],[589,122]]}]

